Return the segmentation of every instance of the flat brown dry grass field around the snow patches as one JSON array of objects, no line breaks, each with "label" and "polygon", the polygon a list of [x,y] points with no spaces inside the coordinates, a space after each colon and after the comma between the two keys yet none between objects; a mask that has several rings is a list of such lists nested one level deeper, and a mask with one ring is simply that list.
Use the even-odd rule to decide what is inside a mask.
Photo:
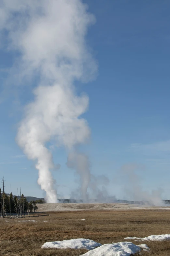
[{"label": "flat brown dry grass field around the snow patches", "polygon": [[[170,211],[167,210],[93,210],[49,214],[50,216],[25,218],[36,222],[0,219],[0,255],[78,256],[86,250],[41,249],[41,245],[48,241],[73,238],[88,238],[106,244],[125,241],[124,237],[128,236],[170,234]],[[140,255],[170,255],[170,241],[131,242],[136,245],[146,243],[150,247],[149,252],[141,251]]]}]

